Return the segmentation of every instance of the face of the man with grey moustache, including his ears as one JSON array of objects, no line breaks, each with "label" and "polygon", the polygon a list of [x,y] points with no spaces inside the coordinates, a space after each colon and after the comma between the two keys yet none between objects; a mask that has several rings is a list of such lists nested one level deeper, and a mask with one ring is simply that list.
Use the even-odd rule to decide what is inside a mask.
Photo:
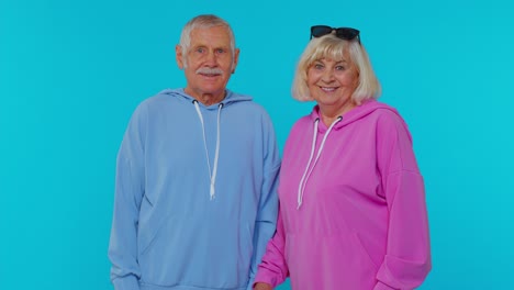
[{"label": "face of the man with grey moustache, including his ears", "polygon": [[221,101],[225,97],[226,83],[235,70],[238,55],[239,49],[235,49],[235,55],[232,54],[227,27],[192,30],[186,55],[182,55],[179,45],[176,47],[177,64],[185,69],[188,81],[186,93],[198,100],[208,97]]}]

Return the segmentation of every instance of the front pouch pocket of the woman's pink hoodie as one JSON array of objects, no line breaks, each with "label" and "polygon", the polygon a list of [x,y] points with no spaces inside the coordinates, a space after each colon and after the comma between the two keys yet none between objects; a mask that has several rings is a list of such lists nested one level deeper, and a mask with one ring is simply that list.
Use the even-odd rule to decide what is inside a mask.
[{"label": "front pouch pocket of the woman's pink hoodie", "polygon": [[288,234],[286,257],[293,289],[372,289],[376,282],[378,267],[351,232]]}]

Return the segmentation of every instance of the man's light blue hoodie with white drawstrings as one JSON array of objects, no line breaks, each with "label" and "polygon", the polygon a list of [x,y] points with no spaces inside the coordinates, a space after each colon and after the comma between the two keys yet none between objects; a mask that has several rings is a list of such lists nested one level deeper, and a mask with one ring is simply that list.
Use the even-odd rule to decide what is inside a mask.
[{"label": "man's light blue hoodie with white drawstrings", "polygon": [[271,121],[226,91],[143,101],[118,155],[109,246],[118,290],[252,289],[276,228],[280,157]]}]

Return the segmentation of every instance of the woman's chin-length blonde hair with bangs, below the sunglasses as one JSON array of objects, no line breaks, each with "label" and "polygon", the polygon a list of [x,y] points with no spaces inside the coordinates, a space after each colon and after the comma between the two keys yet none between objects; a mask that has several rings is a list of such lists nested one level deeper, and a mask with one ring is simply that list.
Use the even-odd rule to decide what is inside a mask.
[{"label": "woman's chin-length blonde hair with bangs, below the sunglasses", "polygon": [[366,100],[378,99],[381,93],[380,82],[371,67],[366,48],[357,38],[346,41],[335,34],[313,38],[303,51],[291,89],[293,98],[299,101],[312,101],[313,98],[308,87],[309,68],[319,59],[343,59],[345,53],[348,53],[349,60],[355,65],[359,76],[358,86],[351,94],[351,100],[361,103]]}]

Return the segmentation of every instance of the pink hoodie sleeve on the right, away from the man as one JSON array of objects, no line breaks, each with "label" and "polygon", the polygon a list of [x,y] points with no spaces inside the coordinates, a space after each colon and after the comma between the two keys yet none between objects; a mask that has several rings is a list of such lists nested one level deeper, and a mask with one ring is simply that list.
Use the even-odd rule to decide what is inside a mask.
[{"label": "pink hoodie sleeve on the right, away from the man", "polygon": [[375,290],[414,289],[432,268],[423,177],[411,135],[399,115],[384,114],[377,134],[377,161],[388,203],[389,230]]}]

